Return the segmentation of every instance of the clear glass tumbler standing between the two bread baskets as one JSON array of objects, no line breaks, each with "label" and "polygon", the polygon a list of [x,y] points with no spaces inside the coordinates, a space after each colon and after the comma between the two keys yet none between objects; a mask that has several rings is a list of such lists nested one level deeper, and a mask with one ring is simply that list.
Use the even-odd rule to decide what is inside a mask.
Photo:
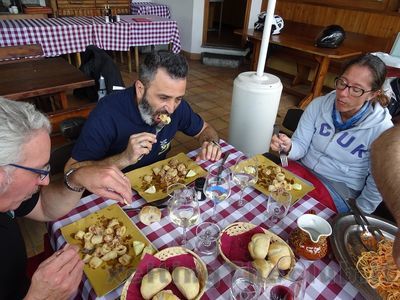
[{"label": "clear glass tumbler standing between the two bread baskets", "polygon": [[217,240],[221,229],[216,223],[203,222],[196,228],[196,249],[204,255],[212,255],[217,251]]}]

